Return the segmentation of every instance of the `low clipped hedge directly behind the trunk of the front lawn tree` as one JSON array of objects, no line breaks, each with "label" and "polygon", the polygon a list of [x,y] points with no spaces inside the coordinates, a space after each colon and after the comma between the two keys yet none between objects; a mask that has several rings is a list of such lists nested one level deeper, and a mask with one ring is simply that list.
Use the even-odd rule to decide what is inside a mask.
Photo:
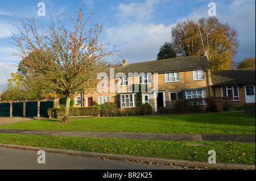
[{"label": "low clipped hedge directly behind the trunk of the front lawn tree", "polygon": [[[47,111],[49,117],[60,118],[64,116],[65,108],[48,108]],[[100,113],[100,106],[69,108],[69,116],[99,116]]]}]

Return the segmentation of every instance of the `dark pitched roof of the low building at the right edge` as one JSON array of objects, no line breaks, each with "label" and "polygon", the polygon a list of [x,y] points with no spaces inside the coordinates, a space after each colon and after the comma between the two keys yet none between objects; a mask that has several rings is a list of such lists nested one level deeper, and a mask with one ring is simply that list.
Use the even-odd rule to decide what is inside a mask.
[{"label": "dark pitched roof of the low building at the right edge", "polygon": [[245,85],[255,83],[254,69],[211,71],[213,86]]}]

